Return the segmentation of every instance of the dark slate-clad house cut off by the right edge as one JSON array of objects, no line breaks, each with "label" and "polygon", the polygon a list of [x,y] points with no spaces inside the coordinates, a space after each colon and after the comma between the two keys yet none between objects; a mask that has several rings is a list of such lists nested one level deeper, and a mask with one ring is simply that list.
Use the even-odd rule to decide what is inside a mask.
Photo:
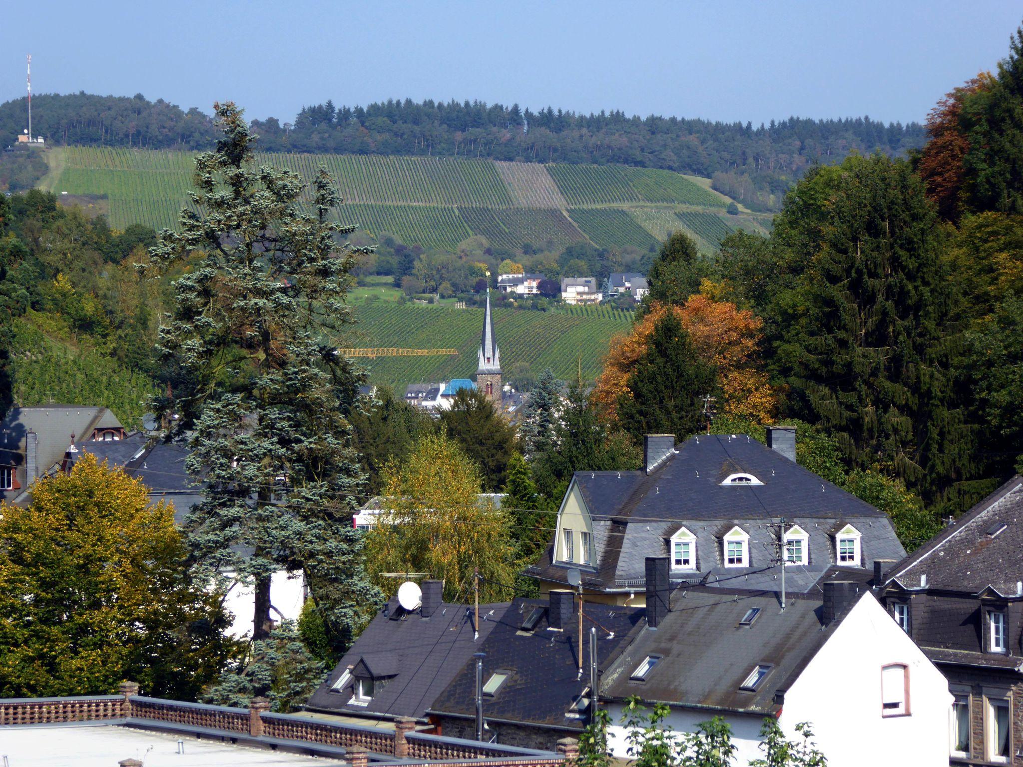
[{"label": "dark slate-clad house cut off by the right edge", "polygon": [[954,696],[952,765],[1023,764],[1021,520],[1017,475],[879,578],[879,598]]}]

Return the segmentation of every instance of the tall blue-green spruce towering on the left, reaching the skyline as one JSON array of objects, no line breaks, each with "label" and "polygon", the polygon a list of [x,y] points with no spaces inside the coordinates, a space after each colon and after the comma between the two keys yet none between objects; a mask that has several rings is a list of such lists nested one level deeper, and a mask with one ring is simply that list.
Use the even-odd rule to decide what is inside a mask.
[{"label": "tall blue-green spruce towering on the left, reaching the skyline", "polygon": [[204,483],[187,538],[196,568],[254,582],[254,639],[273,628],[270,577],[285,570],[304,574],[344,643],[380,597],[352,526],[363,475],[348,415],[361,377],[337,352],[358,252],[337,237],[355,227],[331,218],[341,198],[325,171],[307,213],[298,174],[254,168],[241,110],[215,108],[223,135],[195,159],[191,210],[151,251],[165,267],[202,255],[173,283],[159,344],[175,387],[157,407],[177,414],[170,437],[187,440],[187,470]]}]

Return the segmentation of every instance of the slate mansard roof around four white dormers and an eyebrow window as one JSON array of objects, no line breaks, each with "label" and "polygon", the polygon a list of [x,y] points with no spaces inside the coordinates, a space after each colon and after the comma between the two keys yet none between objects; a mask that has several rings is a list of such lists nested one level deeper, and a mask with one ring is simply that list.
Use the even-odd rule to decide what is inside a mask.
[{"label": "slate mansard roof around four white dormers and an eyebrow window", "polygon": [[[750,473],[761,485],[724,486],[732,473]],[[835,533],[852,525],[860,533],[860,566],[898,560],[905,550],[888,516],[746,435],[700,436],[686,440],[646,471],[577,471],[579,489],[593,521],[596,562],[583,570],[597,588],[641,586],[648,556],[669,554],[668,539],[685,527],[696,536],[697,569],[672,572],[673,579],[742,589],[777,588],[774,565],[779,522],[808,534],[808,561],[786,569],[793,592],[813,587],[835,567]],[[571,490],[571,488],[570,488]],[[748,568],[725,568],[721,537],[733,526],[749,535]],[[567,566],[552,561],[549,546],[531,573],[566,582]]]}]

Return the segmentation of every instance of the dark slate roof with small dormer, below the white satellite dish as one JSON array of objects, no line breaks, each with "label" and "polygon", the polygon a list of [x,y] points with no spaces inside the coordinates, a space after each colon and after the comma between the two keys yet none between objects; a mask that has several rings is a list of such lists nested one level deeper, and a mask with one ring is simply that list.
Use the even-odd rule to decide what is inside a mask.
[{"label": "dark slate roof with small dormer, below the white satellite dish", "polygon": [[[506,607],[506,602],[480,605],[480,638],[474,642],[470,606],[443,603],[425,619],[418,612],[404,614],[397,597],[392,598],[312,694],[307,708],[357,716],[422,719],[437,695],[486,641],[496,626],[493,616],[501,615]],[[392,620],[395,615],[403,617]],[[374,689],[367,706],[349,705],[351,683],[342,691],[332,689],[349,667],[360,663],[374,676],[388,679]]]}]

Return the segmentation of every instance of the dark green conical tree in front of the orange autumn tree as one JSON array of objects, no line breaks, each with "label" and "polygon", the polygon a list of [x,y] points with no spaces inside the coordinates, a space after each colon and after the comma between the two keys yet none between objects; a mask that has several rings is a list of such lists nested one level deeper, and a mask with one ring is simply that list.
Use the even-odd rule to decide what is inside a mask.
[{"label": "dark green conical tree in front of the orange autumn tree", "polygon": [[655,326],[647,351],[618,400],[618,422],[636,442],[646,434],[683,440],[704,425],[699,398],[713,393],[717,373],[697,353],[674,312]]}]

